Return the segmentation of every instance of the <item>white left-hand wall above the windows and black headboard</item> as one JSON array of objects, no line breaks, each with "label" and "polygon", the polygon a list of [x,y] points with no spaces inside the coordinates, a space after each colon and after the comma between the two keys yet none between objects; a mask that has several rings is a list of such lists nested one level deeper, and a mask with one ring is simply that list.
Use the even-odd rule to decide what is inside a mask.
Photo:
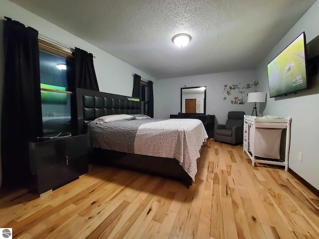
[{"label": "white left-hand wall above the windows and black headboard", "polygon": [[[8,0],[0,0],[0,16],[7,16],[12,20],[17,20],[25,26],[31,26],[39,31],[39,34],[49,37],[55,41],[61,42],[70,47],[78,47],[91,52],[96,58],[94,67],[98,79],[100,91],[118,95],[132,96],[133,76],[138,74],[146,80],[154,81],[156,88],[156,79],[143,71],[125,63],[124,61],[112,56],[111,54],[93,46],[81,38],[63,30],[62,28],[44,20],[32,12],[12,3]],[[1,21],[1,20],[0,20]],[[1,21],[2,22],[2,21]],[[2,30],[0,29],[0,46],[2,46]],[[0,112],[2,101],[2,47],[0,47]],[[1,114],[1,113],[0,113]],[[1,119],[1,118],[0,118]],[[1,122],[1,120],[0,120]],[[1,162],[1,161],[0,161]],[[1,165],[0,165],[1,167]],[[1,185],[1,170],[0,170]]]}]

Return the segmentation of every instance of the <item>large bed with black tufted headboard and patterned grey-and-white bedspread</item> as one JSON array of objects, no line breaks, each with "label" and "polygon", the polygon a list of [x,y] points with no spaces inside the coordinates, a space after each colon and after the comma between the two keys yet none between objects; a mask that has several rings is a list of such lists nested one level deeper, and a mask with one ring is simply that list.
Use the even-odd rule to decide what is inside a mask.
[{"label": "large bed with black tufted headboard and patterned grey-and-white bedspread", "polygon": [[94,162],[192,184],[199,149],[208,137],[200,120],[134,118],[97,122],[95,119],[102,116],[140,114],[141,103],[80,88],[76,96],[78,133],[88,133]]}]

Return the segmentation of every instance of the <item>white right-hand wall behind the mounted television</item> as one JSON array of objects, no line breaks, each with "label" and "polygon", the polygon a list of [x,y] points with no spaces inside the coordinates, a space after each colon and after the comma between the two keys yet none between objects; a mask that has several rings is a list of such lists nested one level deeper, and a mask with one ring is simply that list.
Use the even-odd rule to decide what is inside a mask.
[{"label": "white right-hand wall behind the mounted television", "polygon": [[[299,34],[306,33],[307,42],[319,35],[319,1],[290,29],[256,69],[259,91],[269,93],[267,64]],[[287,97],[269,98],[264,115],[292,117],[289,167],[319,189],[319,79],[312,89]],[[298,160],[299,152],[303,161]]]}]

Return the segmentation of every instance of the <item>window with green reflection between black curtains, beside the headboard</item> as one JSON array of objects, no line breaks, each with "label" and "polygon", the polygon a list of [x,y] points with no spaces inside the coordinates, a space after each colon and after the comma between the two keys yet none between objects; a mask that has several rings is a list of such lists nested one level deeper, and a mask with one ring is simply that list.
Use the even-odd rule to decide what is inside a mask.
[{"label": "window with green reflection between black curtains, beside the headboard", "polygon": [[39,40],[43,135],[73,132],[71,95],[74,59],[65,50]]}]

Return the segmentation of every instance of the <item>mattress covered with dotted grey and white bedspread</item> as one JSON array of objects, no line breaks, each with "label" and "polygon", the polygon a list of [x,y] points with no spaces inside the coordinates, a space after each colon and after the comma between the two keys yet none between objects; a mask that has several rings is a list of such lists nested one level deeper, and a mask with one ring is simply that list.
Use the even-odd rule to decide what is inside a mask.
[{"label": "mattress covered with dotted grey and white bedspread", "polygon": [[131,119],[88,124],[91,146],[174,158],[194,180],[199,149],[208,138],[199,119]]}]

